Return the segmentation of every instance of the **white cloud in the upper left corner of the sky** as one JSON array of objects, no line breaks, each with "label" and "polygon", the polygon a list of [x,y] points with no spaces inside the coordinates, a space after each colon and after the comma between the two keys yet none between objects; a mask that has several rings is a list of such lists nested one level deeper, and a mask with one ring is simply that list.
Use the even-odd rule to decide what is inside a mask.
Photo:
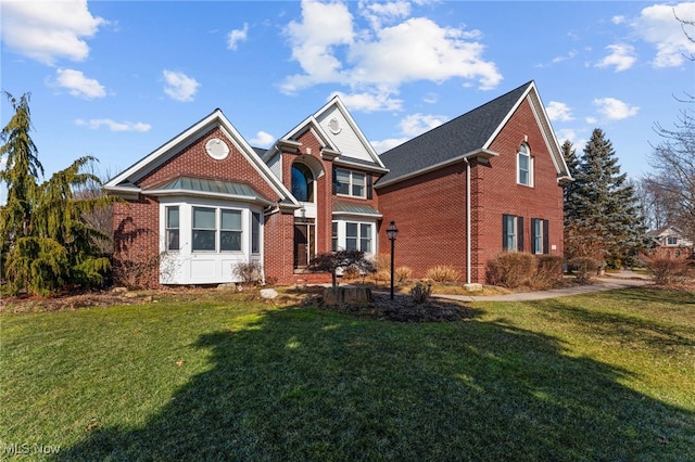
[{"label": "white cloud in the upper left corner of the sky", "polygon": [[61,57],[84,61],[89,54],[85,39],[105,23],[92,16],[87,0],[2,2],[2,41],[50,66]]}]

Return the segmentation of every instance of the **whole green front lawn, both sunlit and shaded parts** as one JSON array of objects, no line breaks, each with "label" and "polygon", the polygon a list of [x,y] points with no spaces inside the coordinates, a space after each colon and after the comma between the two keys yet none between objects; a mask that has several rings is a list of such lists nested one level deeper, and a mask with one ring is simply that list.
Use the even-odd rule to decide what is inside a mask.
[{"label": "whole green front lawn, both sunlit and shaded parts", "polygon": [[692,295],[472,308],[405,324],[212,292],[2,313],[0,459],[695,460]]}]

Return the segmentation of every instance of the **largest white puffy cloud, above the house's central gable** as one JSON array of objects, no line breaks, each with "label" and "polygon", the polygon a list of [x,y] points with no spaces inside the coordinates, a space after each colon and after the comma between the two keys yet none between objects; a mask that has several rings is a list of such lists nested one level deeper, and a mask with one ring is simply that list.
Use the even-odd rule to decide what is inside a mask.
[{"label": "largest white puffy cloud, above the house's central gable", "polygon": [[[481,89],[494,88],[502,75],[482,55],[478,30],[442,27],[426,17],[410,17],[405,2],[366,3],[369,28],[359,29],[341,2],[302,2],[301,22],[291,22],[292,59],[302,73],[288,76],[286,93],[318,84],[350,85],[361,94],[396,94],[416,80],[441,82],[459,77]],[[384,23],[394,25],[383,26]],[[392,107],[390,99],[383,99]],[[365,107],[374,107],[364,105]]]}]

